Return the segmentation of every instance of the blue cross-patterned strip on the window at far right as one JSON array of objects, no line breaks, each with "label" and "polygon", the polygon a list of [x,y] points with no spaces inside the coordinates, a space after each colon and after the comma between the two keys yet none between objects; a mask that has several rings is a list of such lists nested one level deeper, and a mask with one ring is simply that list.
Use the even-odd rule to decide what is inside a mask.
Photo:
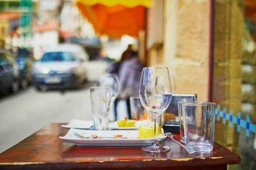
[{"label": "blue cross-patterned strip on the window at far right", "polygon": [[217,121],[220,121],[222,118],[222,123],[226,124],[226,120],[229,121],[229,127],[233,126],[233,123],[236,124],[236,130],[240,132],[240,127],[245,129],[245,135],[250,136],[250,131],[256,133],[256,125],[250,123],[250,116],[246,115],[246,121],[241,119],[241,113],[237,113],[237,117],[233,116],[233,111],[230,110],[230,113],[227,113],[226,108],[223,108],[223,111],[220,109],[220,105],[217,105],[216,116]]}]

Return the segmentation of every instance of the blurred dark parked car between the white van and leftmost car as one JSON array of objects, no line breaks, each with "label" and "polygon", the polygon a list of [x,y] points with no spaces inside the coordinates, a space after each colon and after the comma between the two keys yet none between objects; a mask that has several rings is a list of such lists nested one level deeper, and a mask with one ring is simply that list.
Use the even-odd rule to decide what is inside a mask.
[{"label": "blurred dark parked car between the white van and leftmost car", "polygon": [[19,66],[19,85],[24,89],[32,83],[32,67],[34,64],[32,53],[25,49],[18,48],[16,62]]}]

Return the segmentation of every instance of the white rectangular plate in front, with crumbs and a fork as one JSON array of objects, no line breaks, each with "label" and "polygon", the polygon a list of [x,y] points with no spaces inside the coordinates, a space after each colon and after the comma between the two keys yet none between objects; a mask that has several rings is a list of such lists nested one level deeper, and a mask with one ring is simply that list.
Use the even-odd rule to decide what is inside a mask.
[{"label": "white rectangular plate in front, with crumbs and a fork", "polygon": [[[163,129],[161,130],[163,133]],[[122,137],[127,137],[128,139],[80,139],[74,136],[75,132],[82,136],[97,135],[113,137],[114,135],[122,135]],[[140,146],[154,143],[154,138],[137,139],[137,137],[138,130],[81,130],[71,128],[65,136],[60,136],[59,138],[83,146]],[[158,141],[162,141],[163,139],[166,139],[166,136],[160,135],[157,138]]]}]

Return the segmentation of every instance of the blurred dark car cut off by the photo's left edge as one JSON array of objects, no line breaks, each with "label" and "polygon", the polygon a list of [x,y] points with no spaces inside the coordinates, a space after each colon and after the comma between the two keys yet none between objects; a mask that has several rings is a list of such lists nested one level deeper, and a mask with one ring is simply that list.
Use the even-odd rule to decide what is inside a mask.
[{"label": "blurred dark car cut off by the photo's left edge", "polygon": [[19,91],[19,70],[12,53],[0,49],[0,93]]}]

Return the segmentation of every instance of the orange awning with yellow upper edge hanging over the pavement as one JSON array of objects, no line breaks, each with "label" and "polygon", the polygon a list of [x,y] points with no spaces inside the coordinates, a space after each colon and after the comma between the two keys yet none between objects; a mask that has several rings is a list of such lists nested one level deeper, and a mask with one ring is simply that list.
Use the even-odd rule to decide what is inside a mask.
[{"label": "orange awning with yellow upper edge hanging over the pavement", "polygon": [[138,37],[145,28],[145,7],[151,0],[77,0],[81,14],[92,23],[97,34],[120,38]]}]

